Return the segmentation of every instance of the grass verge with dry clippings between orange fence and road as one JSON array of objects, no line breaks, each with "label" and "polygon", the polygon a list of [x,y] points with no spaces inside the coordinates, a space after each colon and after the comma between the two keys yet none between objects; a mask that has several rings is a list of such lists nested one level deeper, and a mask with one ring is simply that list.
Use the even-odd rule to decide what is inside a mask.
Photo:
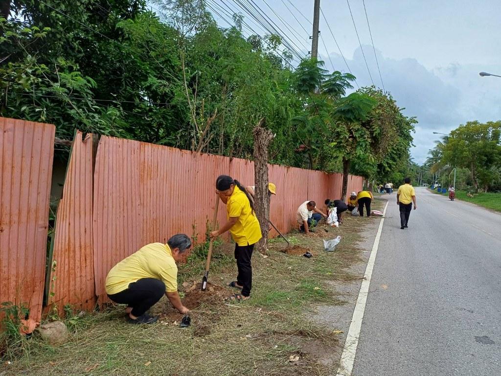
[{"label": "grass verge with dry clippings between orange fence and road", "polygon": [[[378,208],[378,201],[374,203]],[[181,315],[165,298],[153,308],[165,313],[158,324],[136,326],[125,322],[123,307],[85,315],[72,325],[68,342],[50,346],[36,334],[25,339],[22,355],[4,359],[3,375],[329,375],[337,364],[319,362],[332,353],[339,334],[308,319],[321,304],[343,304],[332,281],[354,278],[348,268],[361,260],[357,243],[368,219],[345,215],[338,228],[320,225],[307,237],[288,234],[294,244],[314,255],[284,253],[286,243],[274,240],[269,256],[253,257],[252,297],[240,304],[225,304],[225,287],[234,279],[236,266],[231,245],[214,250],[209,282],[212,292],[193,301],[192,326],[181,329]],[[324,239],[341,235],[335,252],[323,250]],[[200,282],[204,250],[180,267],[180,290],[188,300]],[[191,287],[190,287],[191,286]],[[204,295],[206,294],[206,295]],[[191,308],[191,307],[190,307]],[[3,368],[3,369],[2,369]]]}]

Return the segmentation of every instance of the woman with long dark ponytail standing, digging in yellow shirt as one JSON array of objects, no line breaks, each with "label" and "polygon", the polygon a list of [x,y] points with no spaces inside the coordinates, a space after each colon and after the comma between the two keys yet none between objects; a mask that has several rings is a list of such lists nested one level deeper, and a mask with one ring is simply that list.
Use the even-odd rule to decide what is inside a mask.
[{"label": "woman with long dark ponytail standing, digging in yellow shirt", "polygon": [[261,227],[254,213],[254,204],[245,188],[227,175],[216,179],[216,194],[226,204],[228,222],[217,231],[210,233],[214,239],[229,230],[235,241],[235,259],[238,268],[236,281],[229,286],[241,289],[241,293],[231,295],[229,301],[243,301],[252,289],[252,253],[254,245],[261,239]]}]

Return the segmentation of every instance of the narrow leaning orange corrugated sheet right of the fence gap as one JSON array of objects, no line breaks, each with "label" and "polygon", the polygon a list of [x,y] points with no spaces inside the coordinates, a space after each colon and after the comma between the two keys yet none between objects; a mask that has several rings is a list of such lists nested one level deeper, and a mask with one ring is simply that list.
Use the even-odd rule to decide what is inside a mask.
[{"label": "narrow leaning orange corrugated sheet right of the fence gap", "polygon": [[[93,166],[92,135],[73,140],[63,198],[59,202],[54,233],[49,305],[61,312],[65,304],[94,308],[94,255],[92,239]],[[55,277],[55,278],[54,278]]]}]

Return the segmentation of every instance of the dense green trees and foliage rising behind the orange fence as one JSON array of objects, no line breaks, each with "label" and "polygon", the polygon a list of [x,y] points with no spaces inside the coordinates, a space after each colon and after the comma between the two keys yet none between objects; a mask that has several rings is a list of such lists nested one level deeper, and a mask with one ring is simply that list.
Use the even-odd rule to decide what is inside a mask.
[{"label": "dense green trees and foliage rising behind the orange fence", "polygon": [[[375,89],[344,99],[353,75],[310,59],[292,69],[280,36],[243,38],[241,15],[223,29],[202,0],[153,3],[160,14],[144,0],[13,1],[16,17],[0,20],[0,115],[241,158],[264,117],[271,162],[339,170],[346,148],[333,142],[352,142],[350,158],[369,158],[357,172],[372,174],[384,149],[381,116],[367,114]],[[339,141],[348,123],[351,141]]]}]

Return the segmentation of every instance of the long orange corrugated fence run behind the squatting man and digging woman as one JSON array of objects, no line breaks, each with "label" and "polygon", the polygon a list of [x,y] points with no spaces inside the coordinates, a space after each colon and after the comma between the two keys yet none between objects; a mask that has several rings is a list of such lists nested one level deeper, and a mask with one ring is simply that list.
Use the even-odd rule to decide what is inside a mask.
[{"label": "long orange corrugated fence run behind the squatting man and digging woman", "polygon": [[[320,171],[270,165],[277,185],[271,218],[284,232],[296,222],[296,211],[307,199],[322,203],[331,179]],[[185,233],[205,240],[212,217],[215,179],[228,174],[243,185],[254,185],[252,161],[199,154],[171,147],[102,137],[94,174],[94,270],[96,294],[106,300],[108,271],[143,245],[166,242]],[[226,222],[220,206],[219,225]],[[275,231],[272,233],[274,235]]]}]

